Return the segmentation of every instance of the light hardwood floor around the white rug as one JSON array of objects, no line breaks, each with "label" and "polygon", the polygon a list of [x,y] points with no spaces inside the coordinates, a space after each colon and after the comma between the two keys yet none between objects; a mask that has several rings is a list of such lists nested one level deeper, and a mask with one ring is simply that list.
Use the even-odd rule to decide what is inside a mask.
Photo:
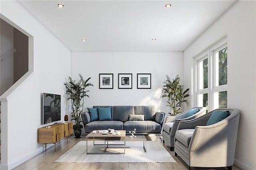
[{"label": "light hardwood floor around the white rug", "polygon": [[[146,136],[149,141],[159,141],[155,135]],[[68,143],[62,140],[60,144],[56,144],[56,152],[54,147],[34,156],[30,160],[24,162],[14,170],[187,170],[188,166],[179,156],[174,156],[174,152],[169,147],[164,148],[172,155],[177,163],[53,163],[58,157],[72,148],[76,143],[83,140],[75,139],[74,136],[68,138]],[[194,170],[204,170],[205,168],[193,168]],[[233,170],[241,170],[236,166],[232,166]],[[208,169],[210,170],[210,169]],[[226,168],[216,168],[216,170],[226,170]]]}]

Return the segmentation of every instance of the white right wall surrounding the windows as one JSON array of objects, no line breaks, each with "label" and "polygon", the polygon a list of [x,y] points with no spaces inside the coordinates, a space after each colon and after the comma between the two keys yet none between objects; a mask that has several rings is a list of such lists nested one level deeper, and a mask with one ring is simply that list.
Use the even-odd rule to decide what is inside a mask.
[{"label": "white right wall surrounding the windows", "polygon": [[256,2],[238,1],[184,51],[184,84],[191,87],[193,58],[228,36],[228,107],[241,110],[235,164],[256,169]]}]

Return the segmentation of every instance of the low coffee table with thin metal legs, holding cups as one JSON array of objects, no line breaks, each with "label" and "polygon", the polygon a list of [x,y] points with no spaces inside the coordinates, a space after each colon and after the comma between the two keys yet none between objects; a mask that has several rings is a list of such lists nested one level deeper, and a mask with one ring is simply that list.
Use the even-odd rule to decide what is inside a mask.
[{"label": "low coffee table with thin metal legs, holding cups", "polygon": [[[136,136],[136,137],[130,137],[130,135],[126,136],[126,131],[123,130],[116,130],[119,131],[120,135],[112,135],[110,133],[108,134],[102,134],[97,131],[96,134],[93,132],[89,133],[86,137],[86,154],[125,154],[125,146],[126,141],[143,141],[143,149],[144,152],[147,151],[147,139],[145,136]],[[104,146],[104,152],[88,152],[88,139],[93,139],[93,145],[102,145]],[[95,144],[95,139],[99,141],[104,141],[104,144]],[[108,144],[109,141],[123,141],[123,144]],[[106,149],[109,145],[121,145],[124,146],[124,152],[106,152]]]}]

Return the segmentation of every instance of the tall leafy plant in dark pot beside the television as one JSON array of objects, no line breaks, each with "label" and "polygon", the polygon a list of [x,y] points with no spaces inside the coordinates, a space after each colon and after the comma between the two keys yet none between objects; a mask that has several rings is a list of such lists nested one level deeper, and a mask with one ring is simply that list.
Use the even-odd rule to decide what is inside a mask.
[{"label": "tall leafy plant in dark pot beside the television", "polygon": [[75,121],[73,129],[76,138],[80,138],[83,128],[83,125],[80,125],[80,123],[82,122],[81,113],[84,109],[84,98],[89,98],[87,94],[89,90],[86,90],[86,88],[88,86],[93,86],[92,83],[88,83],[91,77],[84,80],[81,74],[78,75],[80,77],[80,80],[78,82],[76,82],[76,80],[73,80],[71,77],[68,77],[68,82],[64,83],[66,87],[66,94],[68,94],[69,96],[68,100],[71,100],[71,120]]}]

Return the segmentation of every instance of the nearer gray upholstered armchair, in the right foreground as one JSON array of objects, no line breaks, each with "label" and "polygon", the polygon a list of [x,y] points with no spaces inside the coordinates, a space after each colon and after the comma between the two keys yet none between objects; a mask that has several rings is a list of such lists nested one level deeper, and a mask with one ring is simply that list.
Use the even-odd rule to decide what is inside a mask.
[{"label": "nearer gray upholstered armchair, in the right foreground", "polygon": [[[216,112],[227,117],[209,123]],[[175,135],[175,156],[180,156],[189,167],[227,167],[231,170],[239,116],[239,109],[222,108],[196,119],[180,121]]]}]

